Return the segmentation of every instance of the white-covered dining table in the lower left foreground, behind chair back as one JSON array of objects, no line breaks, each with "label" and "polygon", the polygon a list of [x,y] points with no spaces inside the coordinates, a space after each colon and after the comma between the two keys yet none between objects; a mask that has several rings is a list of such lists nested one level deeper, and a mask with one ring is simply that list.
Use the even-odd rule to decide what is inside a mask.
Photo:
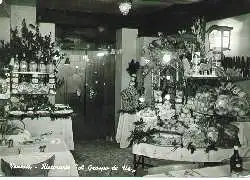
[{"label": "white-covered dining table in the lower left foreground, behind chair back", "polygon": [[[41,147],[43,149],[41,150]],[[53,166],[49,169],[49,177],[78,177],[77,164],[67,145],[60,138],[45,137],[40,141],[21,143],[14,146],[1,145],[0,159],[21,159],[22,164],[39,161],[41,157],[54,155]],[[0,165],[1,167],[2,165]],[[61,168],[67,167],[67,168]],[[3,168],[0,168],[0,175],[5,176]]]}]

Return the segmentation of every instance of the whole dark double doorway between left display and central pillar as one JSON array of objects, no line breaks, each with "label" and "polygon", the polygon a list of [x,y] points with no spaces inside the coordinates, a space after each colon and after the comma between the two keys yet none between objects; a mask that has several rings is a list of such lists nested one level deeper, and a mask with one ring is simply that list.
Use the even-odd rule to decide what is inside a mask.
[{"label": "whole dark double doorway between left display and central pillar", "polygon": [[68,54],[63,65],[63,86],[57,103],[69,104],[74,110],[73,131],[77,140],[104,139],[115,132],[115,55],[89,51]]}]

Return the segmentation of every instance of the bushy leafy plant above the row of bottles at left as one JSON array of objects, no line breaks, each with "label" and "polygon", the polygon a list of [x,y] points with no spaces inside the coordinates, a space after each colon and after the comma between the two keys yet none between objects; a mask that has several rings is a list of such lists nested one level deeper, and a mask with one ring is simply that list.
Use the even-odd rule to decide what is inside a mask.
[{"label": "bushy leafy plant above the row of bottles at left", "polygon": [[35,61],[36,63],[44,62],[45,64],[56,64],[55,56],[63,58],[63,54],[56,50],[55,43],[52,42],[51,33],[42,36],[38,25],[30,26],[32,29],[27,27],[25,19],[23,19],[21,31],[19,32],[17,27],[11,29],[10,42],[1,41],[0,77],[5,78],[3,69],[9,64],[11,58],[20,60],[25,57],[28,63]]}]

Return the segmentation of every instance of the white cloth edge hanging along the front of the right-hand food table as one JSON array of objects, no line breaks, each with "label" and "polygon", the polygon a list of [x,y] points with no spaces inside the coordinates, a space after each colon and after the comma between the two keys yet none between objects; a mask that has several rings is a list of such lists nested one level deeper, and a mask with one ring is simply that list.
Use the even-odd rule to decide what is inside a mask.
[{"label": "white cloth edge hanging along the front of the right-hand food table", "polygon": [[[193,154],[187,148],[163,147],[152,144],[134,144],[132,153],[155,159],[165,159],[185,162],[221,162],[230,158],[233,149],[218,149],[218,151],[205,152],[205,149],[197,149]],[[239,153],[242,157],[250,157],[250,147],[241,147]]]}]

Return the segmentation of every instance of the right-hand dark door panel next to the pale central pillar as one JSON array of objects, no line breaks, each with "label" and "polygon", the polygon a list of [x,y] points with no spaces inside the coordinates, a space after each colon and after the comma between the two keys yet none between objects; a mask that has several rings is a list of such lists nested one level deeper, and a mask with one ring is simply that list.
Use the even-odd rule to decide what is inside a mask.
[{"label": "right-hand dark door panel next to the pale central pillar", "polygon": [[85,79],[86,139],[100,139],[114,134],[115,56],[88,52]]}]

